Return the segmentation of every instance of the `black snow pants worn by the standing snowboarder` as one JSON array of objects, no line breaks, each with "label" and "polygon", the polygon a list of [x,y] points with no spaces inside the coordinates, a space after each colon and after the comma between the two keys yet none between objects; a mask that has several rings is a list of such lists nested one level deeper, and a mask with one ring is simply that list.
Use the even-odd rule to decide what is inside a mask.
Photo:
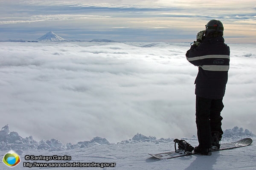
[{"label": "black snow pants worn by the standing snowboarder", "polygon": [[218,131],[221,135],[221,111],[224,108],[222,99],[206,99],[196,96],[196,125],[198,130],[198,142],[201,148],[212,147],[213,131]]}]

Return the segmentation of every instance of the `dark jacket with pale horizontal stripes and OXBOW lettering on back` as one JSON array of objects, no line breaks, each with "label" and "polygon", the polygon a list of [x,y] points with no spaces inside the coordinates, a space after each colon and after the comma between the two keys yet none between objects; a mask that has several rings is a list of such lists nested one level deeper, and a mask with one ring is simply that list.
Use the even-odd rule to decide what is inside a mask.
[{"label": "dark jacket with pale horizontal stripes and OXBOW lettering on back", "polygon": [[230,48],[224,43],[224,38],[205,37],[198,47],[191,46],[186,58],[198,66],[195,94],[207,99],[223,98],[230,62]]}]

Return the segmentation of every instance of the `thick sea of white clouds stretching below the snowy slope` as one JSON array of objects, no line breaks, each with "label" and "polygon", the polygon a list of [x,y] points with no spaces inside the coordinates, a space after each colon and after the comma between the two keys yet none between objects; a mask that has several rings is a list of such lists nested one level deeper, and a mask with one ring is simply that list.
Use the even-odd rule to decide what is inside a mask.
[{"label": "thick sea of white clouds stretching below the snowy slope", "polygon": [[[0,128],[64,144],[196,135],[189,43],[1,42]],[[256,48],[230,45],[222,128],[256,133]]]}]

